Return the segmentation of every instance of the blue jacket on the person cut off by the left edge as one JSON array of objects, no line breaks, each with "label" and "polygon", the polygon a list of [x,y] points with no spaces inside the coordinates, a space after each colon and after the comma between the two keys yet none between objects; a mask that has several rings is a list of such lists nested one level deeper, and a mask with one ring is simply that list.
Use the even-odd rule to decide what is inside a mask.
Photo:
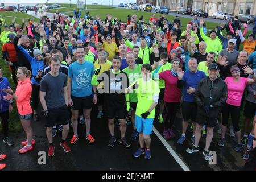
[{"label": "blue jacket on the person cut off by the left edge", "polygon": [[3,113],[7,110],[9,110],[9,104],[12,103],[12,100],[6,101],[3,99],[3,96],[6,96],[6,93],[2,91],[2,89],[7,89],[8,86],[10,86],[10,83],[8,81],[8,79],[6,77],[2,77],[0,78],[0,97],[1,97],[1,101],[0,101],[0,113]]}]

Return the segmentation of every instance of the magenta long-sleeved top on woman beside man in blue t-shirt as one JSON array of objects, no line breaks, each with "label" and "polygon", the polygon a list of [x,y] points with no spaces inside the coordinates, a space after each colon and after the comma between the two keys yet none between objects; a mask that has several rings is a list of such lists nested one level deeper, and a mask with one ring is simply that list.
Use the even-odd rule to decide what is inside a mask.
[{"label": "magenta long-sleeved top on woman beside man in blue t-shirt", "polygon": [[170,70],[159,73],[159,78],[164,80],[166,88],[164,89],[165,102],[180,102],[181,89],[177,87],[178,77],[173,76]]}]

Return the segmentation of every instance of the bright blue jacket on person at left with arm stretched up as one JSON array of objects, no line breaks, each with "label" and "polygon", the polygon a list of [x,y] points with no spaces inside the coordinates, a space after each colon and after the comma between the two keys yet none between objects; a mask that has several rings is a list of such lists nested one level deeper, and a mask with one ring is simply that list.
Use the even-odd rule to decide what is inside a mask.
[{"label": "bright blue jacket on person at left with arm stretched up", "polygon": [[43,60],[36,60],[35,57],[31,57],[29,53],[22,47],[18,46],[19,50],[23,53],[23,55],[27,58],[30,62],[31,69],[32,69],[32,84],[40,85],[40,81],[36,81],[35,77],[38,75],[39,70],[43,70],[44,68],[44,61]]}]

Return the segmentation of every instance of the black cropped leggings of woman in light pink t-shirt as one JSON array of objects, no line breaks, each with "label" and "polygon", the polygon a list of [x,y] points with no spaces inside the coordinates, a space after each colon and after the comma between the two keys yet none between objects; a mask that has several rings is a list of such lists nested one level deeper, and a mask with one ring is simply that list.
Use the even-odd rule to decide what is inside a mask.
[{"label": "black cropped leggings of woman in light pink t-shirt", "polygon": [[227,126],[229,120],[229,113],[231,114],[231,120],[234,127],[234,131],[240,131],[239,118],[240,118],[240,106],[233,106],[230,104],[225,104],[222,107],[222,125]]}]

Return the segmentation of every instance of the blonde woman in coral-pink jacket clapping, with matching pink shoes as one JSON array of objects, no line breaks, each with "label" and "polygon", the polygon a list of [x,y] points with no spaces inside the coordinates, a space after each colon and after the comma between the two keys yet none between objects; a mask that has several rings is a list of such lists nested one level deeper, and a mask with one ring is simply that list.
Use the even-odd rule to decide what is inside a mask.
[{"label": "blonde woman in coral-pink jacket clapping, with matching pink shoes", "polygon": [[35,144],[35,140],[32,139],[33,131],[30,125],[30,119],[32,116],[32,108],[30,106],[32,86],[30,77],[31,72],[26,67],[19,67],[17,71],[17,78],[19,82],[16,92],[14,93],[11,88],[3,89],[3,92],[7,93],[7,95],[3,97],[5,100],[13,98],[16,100],[19,118],[22,122],[23,129],[27,134],[27,140],[22,142],[23,148],[19,150],[20,154],[24,154],[32,150],[32,144]]}]

